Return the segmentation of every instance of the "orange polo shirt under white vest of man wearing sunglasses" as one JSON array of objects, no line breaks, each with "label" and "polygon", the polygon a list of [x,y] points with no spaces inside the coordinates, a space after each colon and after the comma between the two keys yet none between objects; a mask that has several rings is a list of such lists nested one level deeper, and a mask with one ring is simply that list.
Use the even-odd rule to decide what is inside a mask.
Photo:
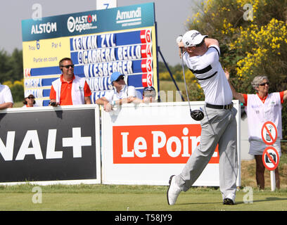
[{"label": "orange polo shirt under white vest of man wearing sunglasses", "polygon": [[[60,82],[62,82],[60,86],[60,105],[72,105],[72,81],[74,79],[75,75],[70,82],[65,82],[63,75],[60,75]],[[91,96],[91,89],[89,89],[87,82],[84,82],[84,96]],[[56,91],[53,89],[53,85],[51,86],[50,99],[56,99]]]}]

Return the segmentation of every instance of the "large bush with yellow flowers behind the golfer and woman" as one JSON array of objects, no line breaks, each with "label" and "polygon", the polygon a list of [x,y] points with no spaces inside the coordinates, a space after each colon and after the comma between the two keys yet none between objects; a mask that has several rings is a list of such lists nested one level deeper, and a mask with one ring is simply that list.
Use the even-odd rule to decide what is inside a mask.
[{"label": "large bush with yellow flowers behind the golfer and woman", "polygon": [[[254,93],[250,82],[267,75],[270,92],[287,84],[286,0],[203,0],[186,21],[219,41],[224,68],[238,92]],[[282,110],[283,136],[287,139],[287,105]]]}]

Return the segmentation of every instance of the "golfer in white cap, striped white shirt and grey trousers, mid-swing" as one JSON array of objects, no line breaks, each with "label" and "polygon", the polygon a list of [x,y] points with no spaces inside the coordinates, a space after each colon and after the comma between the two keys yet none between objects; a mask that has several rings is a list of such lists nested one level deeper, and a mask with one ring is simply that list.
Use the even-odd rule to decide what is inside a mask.
[{"label": "golfer in white cap, striped white shirt and grey trousers, mid-swing", "polygon": [[219,186],[223,204],[234,205],[237,179],[236,108],[232,92],[219,63],[219,42],[196,30],[186,32],[178,42],[184,63],[198,79],[205,94],[204,118],[200,121],[200,144],[184,169],[170,177],[167,203],[174,205],[181,191],[187,191],[219,147]]}]

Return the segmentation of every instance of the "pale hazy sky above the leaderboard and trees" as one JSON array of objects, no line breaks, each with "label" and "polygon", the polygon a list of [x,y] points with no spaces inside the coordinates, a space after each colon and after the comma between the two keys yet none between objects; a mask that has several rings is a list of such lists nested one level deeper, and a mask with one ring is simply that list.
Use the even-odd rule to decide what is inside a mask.
[{"label": "pale hazy sky above the leaderboard and trees", "polygon": [[[176,45],[179,34],[186,32],[184,23],[192,15],[192,0],[117,0],[117,6],[155,3],[155,20],[158,25],[158,46],[167,63],[181,63]],[[0,50],[11,53],[22,49],[21,20],[32,18],[33,4],[41,4],[42,16],[61,15],[96,10],[96,0],[10,0],[2,1],[0,7]],[[162,60],[160,55],[159,60]]]}]

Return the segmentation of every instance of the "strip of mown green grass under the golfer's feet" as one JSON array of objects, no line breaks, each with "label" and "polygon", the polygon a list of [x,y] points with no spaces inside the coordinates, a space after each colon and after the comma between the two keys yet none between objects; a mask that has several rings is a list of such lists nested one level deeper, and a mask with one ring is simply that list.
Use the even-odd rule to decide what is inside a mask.
[{"label": "strip of mown green grass under the golfer's feet", "polygon": [[[246,193],[236,193],[236,205],[222,205],[217,188],[191,188],[179,195],[175,205],[167,205],[167,186],[124,185],[53,185],[39,186],[42,203],[33,203],[31,184],[0,186],[0,210],[85,210],[85,211],[198,211],[198,210],[287,210],[287,190],[258,191],[253,189],[253,203],[245,203]],[[34,197],[33,197],[34,196]],[[39,200],[39,198],[37,198]],[[247,198],[250,200],[250,198]]]}]

